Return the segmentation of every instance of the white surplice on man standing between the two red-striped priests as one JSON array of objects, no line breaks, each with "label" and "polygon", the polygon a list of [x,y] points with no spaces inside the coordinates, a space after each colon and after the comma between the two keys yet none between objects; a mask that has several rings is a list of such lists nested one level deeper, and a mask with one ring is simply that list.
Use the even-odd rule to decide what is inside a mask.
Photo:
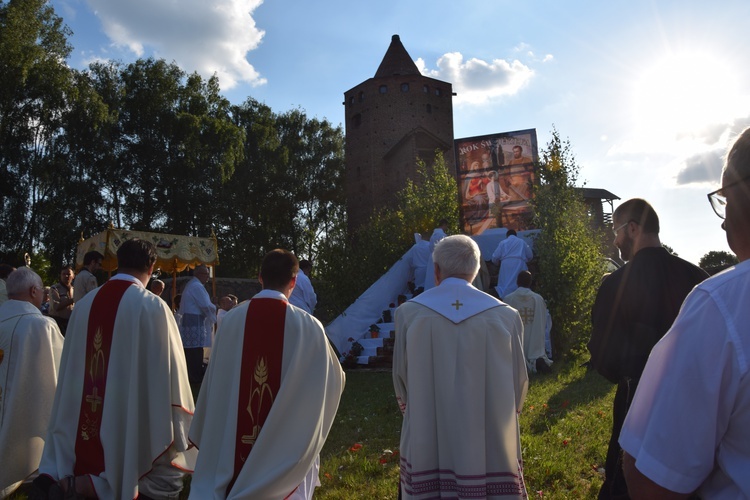
[{"label": "white surplice on man standing between the two red-striped priests", "polygon": [[178,312],[183,347],[211,347],[210,332],[216,323],[216,306],[198,278],[193,277],[182,290]]}]

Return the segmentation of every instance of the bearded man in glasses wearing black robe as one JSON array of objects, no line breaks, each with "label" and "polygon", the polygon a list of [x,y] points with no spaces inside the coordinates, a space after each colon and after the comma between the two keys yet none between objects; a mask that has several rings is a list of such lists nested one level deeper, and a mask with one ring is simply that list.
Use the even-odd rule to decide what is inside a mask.
[{"label": "bearded man in glasses wearing black robe", "polygon": [[591,313],[591,366],[617,384],[612,436],[600,499],[628,498],[617,442],[651,348],[672,325],[690,290],[708,274],[670,254],[659,240],[659,217],[640,198],[613,214],[614,245],[627,263],[608,276]]}]

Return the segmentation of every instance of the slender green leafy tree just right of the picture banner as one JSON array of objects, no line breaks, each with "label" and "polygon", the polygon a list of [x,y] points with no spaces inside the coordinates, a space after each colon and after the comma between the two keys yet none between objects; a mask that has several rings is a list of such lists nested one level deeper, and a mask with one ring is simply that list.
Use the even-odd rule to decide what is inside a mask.
[{"label": "slender green leafy tree just right of the picture banner", "polygon": [[565,353],[588,340],[591,308],[601,282],[602,235],[589,223],[574,185],[579,167],[569,141],[557,130],[541,153],[540,185],[534,200],[534,249],[539,265],[538,292],[547,301],[555,351]]}]

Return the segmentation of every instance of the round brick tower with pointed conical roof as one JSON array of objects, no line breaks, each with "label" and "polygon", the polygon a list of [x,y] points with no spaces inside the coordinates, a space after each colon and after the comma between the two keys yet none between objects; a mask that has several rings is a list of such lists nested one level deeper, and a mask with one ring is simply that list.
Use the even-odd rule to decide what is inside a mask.
[{"label": "round brick tower with pointed conical roof", "polygon": [[350,230],[394,206],[406,180],[417,181],[417,160],[431,164],[436,149],[455,175],[452,100],[451,84],[422,76],[398,35],[375,77],[344,93]]}]

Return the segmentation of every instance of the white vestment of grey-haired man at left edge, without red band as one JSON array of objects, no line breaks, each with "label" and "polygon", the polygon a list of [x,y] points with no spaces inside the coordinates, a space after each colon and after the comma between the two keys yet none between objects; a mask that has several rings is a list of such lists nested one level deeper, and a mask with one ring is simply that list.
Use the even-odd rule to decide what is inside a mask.
[{"label": "white vestment of grey-haired man at left edge, without red band", "polygon": [[0,498],[39,467],[62,347],[57,323],[30,302],[0,306]]}]

